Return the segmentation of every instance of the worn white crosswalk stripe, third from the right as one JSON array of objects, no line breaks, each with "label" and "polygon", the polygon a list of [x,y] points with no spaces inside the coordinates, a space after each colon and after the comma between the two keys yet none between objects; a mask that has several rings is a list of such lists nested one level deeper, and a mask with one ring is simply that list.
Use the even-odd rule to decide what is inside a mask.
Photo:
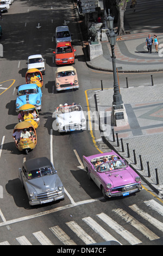
[{"label": "worn white crosswalk stripe, third from the right", "polygon": [[137,221],[134,217],[129,215],[126,211],[118,208],[112,210],[114,211],[117,215],[119,215],[124,221],[132,225],[134,228],[139,230],[143,235],[145,235],[149,240],[155,240],[159,239],[160,237],[155,235],[151,230],[149,230],[145,225]]}]

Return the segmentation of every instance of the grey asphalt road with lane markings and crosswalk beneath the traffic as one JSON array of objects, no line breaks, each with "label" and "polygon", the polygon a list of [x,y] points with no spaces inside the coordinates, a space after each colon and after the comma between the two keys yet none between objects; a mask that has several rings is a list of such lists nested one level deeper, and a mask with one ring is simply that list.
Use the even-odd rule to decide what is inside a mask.
[{"label": "grey asphalt road with lane markings and crosswalk beneath the traffic", "polygon": [[[79,90],[57,93],[54,88],[53,35],[55,27],[65,20],[70,21],[68,26],[77,50],[74,66],[78,72]],[[37,28],[38,25],[41,27]],[[88,97],[93,111],[93,92],[100,88],[101,80],[104,88],[111,88],[113,84],[112,74],[87,68],[72,2],[64,0],[61,6],[56,0],[15,1],[9,13],[3,15],[2,27],[4,56],[0,59],[0,87],[9,89],[0,92],[0,143],[3,146],[0,158],[0,185],[3,187],[0,245],[85,245],[108,240],[117,240],[122,245],[162,244],[162,204],[145,184],[140,193],[105,200],[102,192],[88,179],[82,168],[82,156],[108,150],[100,140],[99,131],[93,132],[98,140],[95,145],[89,130],[60,135],[52,129],[53,112],[59,103],[81,103],[87,111],[85,90],[92,89]],[[36,131],[37,145],[29,155],[23,155],[12,140],[17,123],[15,101],[17,87],[25,83],[27,58],[34,53],[41,53],[45,58],[46,74],[43,76],[40,126]],[[147,76],[149,74],[130,75],[137,83],[147,81]],[[160,74],[156,79],[159,77]],[[125,82],[123,74],[120,78]],[[18,168],[24,158],[38,156],[47,156],[54,162],[66,194],[62,202],[32,208],[18,180]]]}]

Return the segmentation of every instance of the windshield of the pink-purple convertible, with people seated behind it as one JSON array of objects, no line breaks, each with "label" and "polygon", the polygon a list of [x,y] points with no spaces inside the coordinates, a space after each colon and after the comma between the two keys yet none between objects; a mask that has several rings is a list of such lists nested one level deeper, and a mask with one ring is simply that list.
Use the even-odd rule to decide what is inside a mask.
[{"label": "windshield of the pink-purple convertible, with people seated behind it", "polygon": [[98,172],[110,172],[111,170],[120,170],[128,167],[126,160],[114,160],[100,164],[97,167]]}]

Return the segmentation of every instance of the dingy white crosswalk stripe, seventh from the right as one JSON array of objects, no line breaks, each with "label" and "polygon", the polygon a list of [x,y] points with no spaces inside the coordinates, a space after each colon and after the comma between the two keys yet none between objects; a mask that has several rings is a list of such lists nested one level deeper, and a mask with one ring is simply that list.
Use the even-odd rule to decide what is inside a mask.
[{"label": "dingy white crosswalk stripe, seventh from the right", "polygon": [[62,243],[64,243],[64,245],[76,245],[76,243],[71,240],[70,237],[58,225],[49,229]]}]

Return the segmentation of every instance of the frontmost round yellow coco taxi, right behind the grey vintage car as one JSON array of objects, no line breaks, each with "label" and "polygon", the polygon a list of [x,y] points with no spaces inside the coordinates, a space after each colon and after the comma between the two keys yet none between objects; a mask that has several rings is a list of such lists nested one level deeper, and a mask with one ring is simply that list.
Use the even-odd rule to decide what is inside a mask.
[{"label": "frontmost round yellow coco taxi, right behind the grey vintage car", "polygon": [[[37,144],[37,136],[36,136],[36,131],[35,128],[32,124],[30,124],[29,122],[23,121],[21,123],[18,123],[15,125],[14,127],[14,132],[16,132],[17,130],[19,131],[24,131],[24,129],[26,129],[28,132],[31,130],[34,132],[34,136],[33,138],[21,138],[20,140],[18,140],[18,143],[16,144],[16,147],[19,151],[24,151],[26,154],[28,154],[28,152],[32,149],[34,149],[36,147]],[[26,131],[26,132],[27,132]],[[22,134],[22,133],[21,133]]]}]

